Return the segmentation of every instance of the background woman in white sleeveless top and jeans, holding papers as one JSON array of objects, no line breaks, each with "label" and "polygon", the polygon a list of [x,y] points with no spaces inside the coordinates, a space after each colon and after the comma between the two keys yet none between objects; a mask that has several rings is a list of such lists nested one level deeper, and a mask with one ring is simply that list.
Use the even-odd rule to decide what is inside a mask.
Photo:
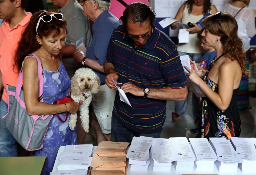
[{"label": "background woman in white sleeveless top and jeans, holding papers", "polygon": [[[178,10],[175,20],[187,24],[191,22],[195,25],[193,28],[187,29],[189,31],[189,43],[179,43],[177,50],[180,56],[189,55],[192,61],[199,63],[205,50],[202,49],[201,41],[197,38],[197,32],[201,28],[196,24],[207,13],[215,14],[217,9],[215,5],[211,4],[210,0],[187,0]],[[174,30],[178,28],[177,22],[170,25]],[[179,116],[185,116],[187,109],[188,97],[184,101],[175,101],[175,112],[172,113],[173,119],[178,119]],[[199,102],[195,94],[192,96],[193,118],[200,117]]]}]

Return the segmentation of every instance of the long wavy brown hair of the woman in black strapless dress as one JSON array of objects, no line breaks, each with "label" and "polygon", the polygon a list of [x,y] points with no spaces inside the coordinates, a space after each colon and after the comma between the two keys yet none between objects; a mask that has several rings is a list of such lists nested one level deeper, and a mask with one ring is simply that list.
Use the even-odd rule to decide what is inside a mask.
[{"label": "long wavy brown hair of the woman in black strapless dress", "polygon": [[232,61],[237,60],[242,73],[248,75],[249,70],[244,67],[246,58],[243,43],[237,35],[238,26],[234,17],[227,13],[219,13],[208,16],[202,23],[211,34],[220,36],[225,56]]}]

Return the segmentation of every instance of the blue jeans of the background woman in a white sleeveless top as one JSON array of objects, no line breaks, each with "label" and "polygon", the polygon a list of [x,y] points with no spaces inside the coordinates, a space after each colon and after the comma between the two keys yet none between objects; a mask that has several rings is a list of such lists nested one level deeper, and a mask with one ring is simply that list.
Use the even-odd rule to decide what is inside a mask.
[{"label": "blue jeans of the background woman in a white sleeveless top", "polygon": [[[196,63],[199,63],[202,59],[203,54],[202,53],[184,53],[184,52],[178,52],[180,56],[183,55],[188,55],[189,58],[192,61],[195,61]],[[189,90],[189,87],[188,87]],[[182,101],[175,101],[175,113],[179,114],[180,116],[185,116],[186,115],[186,110],[187,110],[187,105],[188,105],[188,96],[186,100]],[[193,109],[193,118],[194,120],[200,116],[200,111],[201,111],[201,104],[198,102],[198,98],[196,95],[193,93],[192,95],[192,109]]]}]

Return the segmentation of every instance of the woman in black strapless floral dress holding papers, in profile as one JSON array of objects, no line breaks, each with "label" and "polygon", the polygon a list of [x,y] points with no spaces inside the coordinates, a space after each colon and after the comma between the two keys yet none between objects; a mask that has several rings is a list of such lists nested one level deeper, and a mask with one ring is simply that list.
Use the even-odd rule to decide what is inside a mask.
[{"label": "woman in black strapless floral dress holding papers, in profile", "polygon": [[[241,120],[236,102],[239,83],[249,71],[243,44],[237,35],[237,22],[229,14],[218,12],[204,19],[202,32],[206,46],[214,47],[216,57],[208,71],[197,69],[191,61],[188,78],[197,84],[206,97],[202,98],[201,137],[239,137]],[[202,80],[201,77],[204,77]]]}]

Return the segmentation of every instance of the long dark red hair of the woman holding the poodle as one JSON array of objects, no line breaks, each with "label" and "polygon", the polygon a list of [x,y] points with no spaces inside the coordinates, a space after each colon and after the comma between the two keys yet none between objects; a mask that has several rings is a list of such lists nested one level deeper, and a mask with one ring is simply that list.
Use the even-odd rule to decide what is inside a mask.
[{"label": "long dark red hair of the woman holding the poodle", "polygon": [[[55,14],[55,12],[44,12],[44,10],[40,10],[31,17],[18,43],[18,47],[14,58],[13,71],[19,73],[22,67],[22,62],[24,61],[25,57],[41,47],[41,45],[37,42],[36,39],[36,25],[39,20],[39,16],[41,17],[50,14]],[[52,20],[50,22],[44,22],[43,20],[41,20],[37,32],[38,36],[42,38],[43,36],[47,37],[52,33],[54,33],[54,36],[57,36],[61,32],[60,29],[64,29],[67,33],[66,20],[59,20],[56,19],[55,17],[52,17]]]}]

